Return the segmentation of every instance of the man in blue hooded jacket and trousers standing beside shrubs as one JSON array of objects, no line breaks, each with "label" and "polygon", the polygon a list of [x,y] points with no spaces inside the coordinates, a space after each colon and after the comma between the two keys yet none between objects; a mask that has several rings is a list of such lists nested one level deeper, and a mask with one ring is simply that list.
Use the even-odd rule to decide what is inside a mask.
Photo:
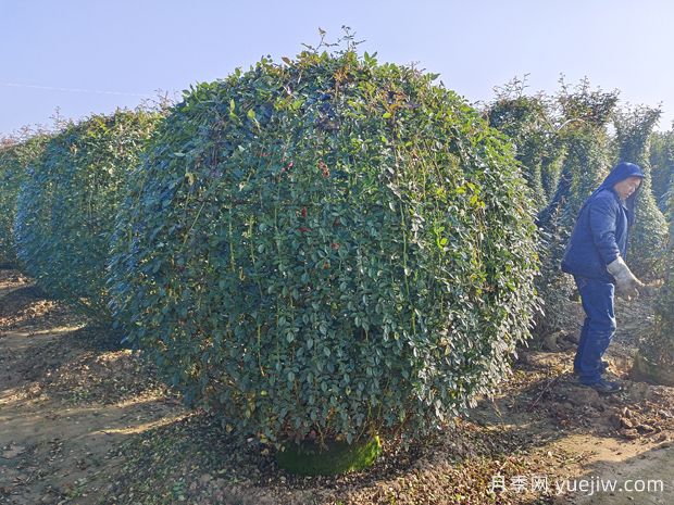
[{"label": "man in blue hooded jacket and trousers standing beside shrubs", "polygon": [[602,378],[601,357],[615,332],[614,290],[631,298],[644,286],[624,261],[641,179],[644,173],[634,163],[619,163],[611,171],[583,204],[562,260],[562,270],[574,276],[586,315],[574,373],[582,384],[601,393],[621,389]]}]

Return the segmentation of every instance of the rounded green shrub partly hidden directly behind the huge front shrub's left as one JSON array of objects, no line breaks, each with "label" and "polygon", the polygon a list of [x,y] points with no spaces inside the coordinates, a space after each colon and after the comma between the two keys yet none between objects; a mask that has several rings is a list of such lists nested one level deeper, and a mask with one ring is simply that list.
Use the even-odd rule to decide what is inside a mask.
[{"label": "rounded green shrub partly hidden directly behind the huge front shrub's left", "polygon": [[17,199],[17,252],[48,293],[108,315],[105,262],[117,205],[158,119],[117,111],[71,124],[29,167]]}]

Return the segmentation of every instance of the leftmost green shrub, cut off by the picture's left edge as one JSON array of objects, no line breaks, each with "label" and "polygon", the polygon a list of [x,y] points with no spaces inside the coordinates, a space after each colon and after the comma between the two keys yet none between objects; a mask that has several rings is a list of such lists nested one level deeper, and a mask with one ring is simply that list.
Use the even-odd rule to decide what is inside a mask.
[{"label": "leftmost green shrub, cut off by the picture's left edge", "polygon": [[35,132],[0,149],[0,265],[17,266],[14,245],[16,197],[27,166],[39,157],[48,139],[47,134]]}]

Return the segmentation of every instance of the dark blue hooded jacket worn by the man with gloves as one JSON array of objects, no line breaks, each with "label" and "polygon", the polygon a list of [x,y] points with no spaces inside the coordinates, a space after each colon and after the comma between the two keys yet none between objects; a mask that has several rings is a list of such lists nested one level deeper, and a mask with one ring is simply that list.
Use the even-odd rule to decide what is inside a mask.
[{"label": "dark blue hooded jacket worn by the man with gloves", "polygon": [[585,201],[564,252],[563,272],[606,282],[614,281],[607,265],[619,254],[625,257],[638,189],[622,201],[613,186],[633,176],[644,177],[638,165],[619,163]]}]

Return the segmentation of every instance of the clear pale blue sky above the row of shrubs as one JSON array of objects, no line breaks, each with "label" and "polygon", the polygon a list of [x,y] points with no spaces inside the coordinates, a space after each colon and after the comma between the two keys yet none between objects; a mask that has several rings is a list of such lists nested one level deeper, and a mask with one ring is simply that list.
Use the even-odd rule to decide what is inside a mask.
[{"label": "clear pale blue sky above the row of shrubs", "polygon": [[[662,104],[674,119],[674,2],[666,0],[0,0],[0,136],[112,112],[278,60],[341,25],[380,61],[417,62],[470,101],[529,74],[532,91],[575,84]],[[177,94],[176,94],[177,93]]]}]

